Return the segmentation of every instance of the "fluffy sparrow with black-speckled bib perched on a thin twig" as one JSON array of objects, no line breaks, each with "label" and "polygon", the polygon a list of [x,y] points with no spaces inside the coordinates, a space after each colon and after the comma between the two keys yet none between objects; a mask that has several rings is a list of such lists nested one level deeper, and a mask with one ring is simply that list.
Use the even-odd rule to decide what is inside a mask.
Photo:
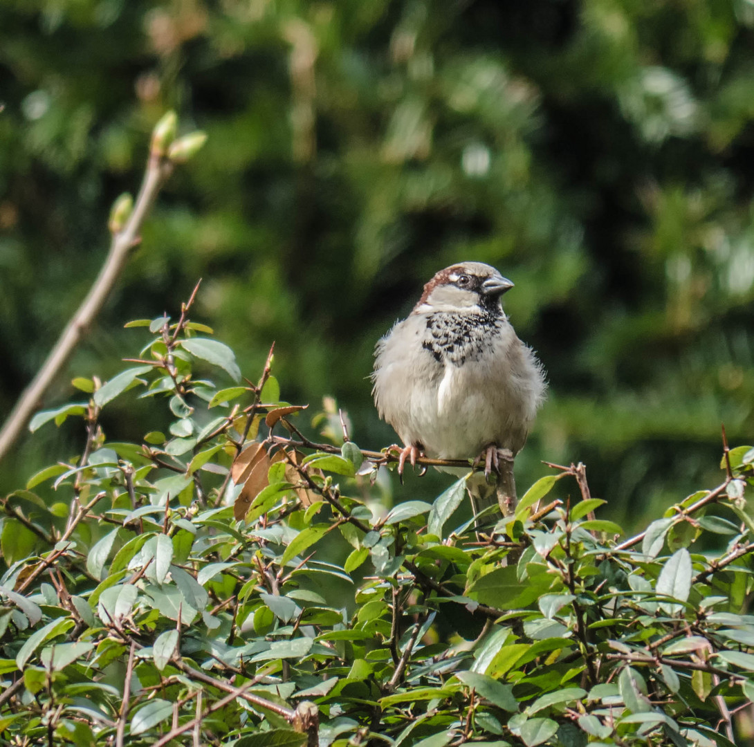
[{"label": "fluffy sparrow with black-speckled bib perched on a thin twig", "polygon": [[467,482],[474,512],[498,504],[504,516],[516,503],[513,457],[546,388],[541,364],[503,311],[512,287],[481,262],[441,270],[378,342],[372,373],[379,415],[403,440],[399,472],[420,455],[476,458],[484,473]]}]

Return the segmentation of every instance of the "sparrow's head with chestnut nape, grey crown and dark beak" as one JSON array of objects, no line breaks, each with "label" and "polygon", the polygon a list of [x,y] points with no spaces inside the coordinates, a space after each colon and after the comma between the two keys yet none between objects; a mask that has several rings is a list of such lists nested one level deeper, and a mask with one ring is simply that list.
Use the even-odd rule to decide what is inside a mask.
[{"label": "sparrow's head with chestnut nape, grey crown and dark beak", "polygon": [[414,314],[434,311],[501,310],[500,297],[513,283],[482,262],[461,262],[440,270],[424,287]]}]

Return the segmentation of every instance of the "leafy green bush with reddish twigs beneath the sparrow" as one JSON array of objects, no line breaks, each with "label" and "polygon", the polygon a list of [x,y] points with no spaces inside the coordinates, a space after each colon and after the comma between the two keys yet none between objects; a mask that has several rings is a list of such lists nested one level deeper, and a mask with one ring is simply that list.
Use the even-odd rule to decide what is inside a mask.
[{"label": "leafy green bush with reddish twigs beneath the sparrow", "polygon": [[[187,311],[131,323],[123,372],[32,421],[75,421],[81,453],[2,501],[0,742],[734,743],[754,449],[635,537],[579,464],[477,540],[463,479],[389,507],[390,457],[281,400],[271,355],[241,378]],[[151,403],[142,442],[116,397]]]}]

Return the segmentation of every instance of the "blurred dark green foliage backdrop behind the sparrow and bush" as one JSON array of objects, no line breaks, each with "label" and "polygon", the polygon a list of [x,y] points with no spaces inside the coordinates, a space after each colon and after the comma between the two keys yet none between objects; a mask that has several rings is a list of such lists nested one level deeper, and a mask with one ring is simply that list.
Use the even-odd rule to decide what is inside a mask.
[{"label": "blurred dark green foliage backdrop behind the sparrow and bush", "polygon": [[[207,145],[48,404],[117,372],[146,341],[123,323],[176,316],[203,277],[194,316],[247,375],[275,340],[288,400],[333,395],[357,443],[388,445],[372,347],[474,259],[516,283],[507,311],[549,372],[520,488],[541,459],[584,461],[636,527],[718,482],[722,423],[752,442],[748,0],[2,0],[0,103],[3,417],[174,108]],[[109,436],[139,438],[138,407],[113,403]],[[75,453],[76,429],[20,444],[0,490]]]}]

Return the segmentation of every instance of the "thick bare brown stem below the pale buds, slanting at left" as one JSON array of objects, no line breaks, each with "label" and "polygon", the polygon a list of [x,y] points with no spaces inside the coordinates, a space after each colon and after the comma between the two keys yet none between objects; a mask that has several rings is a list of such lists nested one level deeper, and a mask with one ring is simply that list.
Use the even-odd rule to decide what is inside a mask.
[{"label": "thick bare brown stem below the pale buds, slanting at left", "polygon": [[100,274],[94,280],[78,311],[66,324],[47,360],[44,361],[31,384],[23,390],[0,430],[0,461],[17,441],[35,409],[41,403],[44,393],[63,371],[76,346],[100,314],[126,265],[130,250],[139,243],[139,231],[144,219],[172,168],[172,161],[159,155],[155,156],[155,152],[150,154],[143,182],[136,197],[136,204],[123,228],[113,233],[110,249]]}]

